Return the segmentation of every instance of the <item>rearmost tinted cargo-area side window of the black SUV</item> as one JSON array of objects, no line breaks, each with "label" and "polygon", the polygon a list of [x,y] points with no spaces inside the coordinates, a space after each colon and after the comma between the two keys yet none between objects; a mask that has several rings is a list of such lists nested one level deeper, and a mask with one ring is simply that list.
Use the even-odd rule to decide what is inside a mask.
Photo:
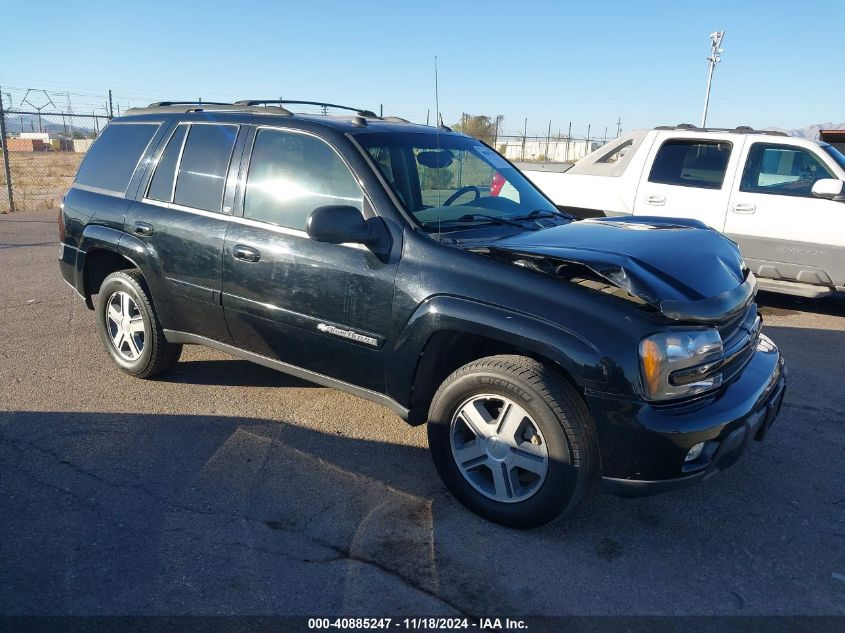
[{"label": "rearmost tinted cargo-area side window of the black SUV", "polygon": [[110,123],[88,150],[76,184],[124,195],[159,123]]}]

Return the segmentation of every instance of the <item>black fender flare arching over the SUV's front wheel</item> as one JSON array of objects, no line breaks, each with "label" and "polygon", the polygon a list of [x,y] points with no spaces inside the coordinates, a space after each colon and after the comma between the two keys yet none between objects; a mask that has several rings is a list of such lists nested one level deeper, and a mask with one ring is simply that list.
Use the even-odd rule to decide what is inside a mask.
[{"label": "black fender flare arching over the SUV's front wheel", "polygon": [[391,397],[410,403],[420,356],[439,332],[483,336],[548,359],[582,388],[601,389],[607,382],[599,349],[563,325],[502,306],[441,295],[421,303],[395,339],[387,373]]}]

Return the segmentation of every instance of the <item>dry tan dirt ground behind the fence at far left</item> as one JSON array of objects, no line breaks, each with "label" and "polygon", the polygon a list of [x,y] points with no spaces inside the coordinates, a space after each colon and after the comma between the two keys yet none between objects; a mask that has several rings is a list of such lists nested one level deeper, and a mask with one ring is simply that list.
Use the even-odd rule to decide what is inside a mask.
[{"label": "dry tan dirt ground behind the fence at far left", "polygon": [[[84,156],[59,151],[9,152],[15,209],[58,209]],[[8,212],[6,172],[0,163],[0,213]]]}]

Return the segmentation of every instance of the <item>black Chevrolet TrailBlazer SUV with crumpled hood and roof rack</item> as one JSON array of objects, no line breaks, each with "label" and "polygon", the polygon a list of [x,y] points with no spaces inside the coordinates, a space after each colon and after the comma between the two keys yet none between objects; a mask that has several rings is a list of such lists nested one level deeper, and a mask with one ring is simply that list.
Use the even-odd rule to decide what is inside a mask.
[{"label": "black Chevrolet TrailBlazer SUV with crumpled hood and roof rack", "polygon": [[60,265],[123,371],[193,343],[382,403],[515,527],[596,476],[686,486],[762,439],[786,372],[733,242],[574,221],[478,140],[298,103],[156,103],[94,143]]}]

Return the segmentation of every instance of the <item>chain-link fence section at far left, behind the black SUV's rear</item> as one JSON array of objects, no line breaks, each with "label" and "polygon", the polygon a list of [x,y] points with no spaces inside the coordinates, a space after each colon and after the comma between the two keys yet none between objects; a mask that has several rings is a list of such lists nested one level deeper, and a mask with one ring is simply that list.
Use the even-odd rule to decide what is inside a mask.
[{"label": "chain-link fence section at far left, behind the black SUV's rear", "polygon": [[0,213],[58,208],[107,115],[0,108]]}]

